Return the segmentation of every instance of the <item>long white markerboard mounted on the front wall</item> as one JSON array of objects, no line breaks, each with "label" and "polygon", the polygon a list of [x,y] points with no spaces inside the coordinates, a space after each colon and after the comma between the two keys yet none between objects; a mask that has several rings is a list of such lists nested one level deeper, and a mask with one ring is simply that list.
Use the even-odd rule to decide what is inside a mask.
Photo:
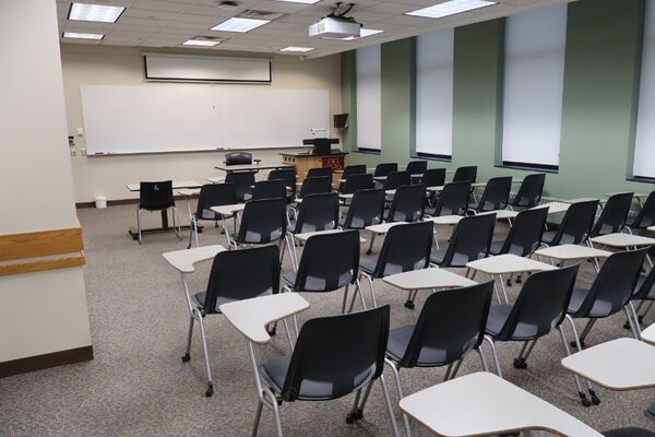
[{"label": "long white markerboard mounted on the front wall", "polygon": [[88,155],[302,146],[330,129],[327,90],[82,85]]}]

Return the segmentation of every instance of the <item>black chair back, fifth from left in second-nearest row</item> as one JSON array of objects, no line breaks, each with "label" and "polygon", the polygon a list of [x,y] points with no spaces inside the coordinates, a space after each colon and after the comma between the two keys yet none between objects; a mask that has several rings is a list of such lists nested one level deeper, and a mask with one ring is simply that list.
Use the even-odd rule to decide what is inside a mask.
[{"label": "black chair back, fifth from left in second-nearest row", "polygon": [[547,217],[547,208],[521,211],[514,218],[514,224],[510,228],[499,255],[513,253],[519,257],[531,255],[541,243]]}]

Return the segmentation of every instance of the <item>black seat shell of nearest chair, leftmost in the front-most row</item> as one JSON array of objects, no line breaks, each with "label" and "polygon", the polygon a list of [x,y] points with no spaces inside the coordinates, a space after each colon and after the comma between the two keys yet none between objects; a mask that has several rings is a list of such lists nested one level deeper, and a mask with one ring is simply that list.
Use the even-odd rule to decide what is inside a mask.
[{"label": "black seat shell of nearest chair, leftmost in the front-most row", "polygon": [[329,400],[349,394],[379,378],[389,340],[389,312],[385,305],[306,321],[294,347],[282,400],[302,400],[299,393],[303,383],[325,387],[321,394]]}]

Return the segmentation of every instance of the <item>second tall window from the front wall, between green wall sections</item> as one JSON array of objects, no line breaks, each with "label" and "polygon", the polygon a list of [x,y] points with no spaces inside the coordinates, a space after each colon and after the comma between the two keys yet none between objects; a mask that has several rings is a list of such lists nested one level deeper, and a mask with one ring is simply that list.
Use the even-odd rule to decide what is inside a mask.
[{"label": "second tall window from the front wall, between green wall sections", "polygon": [[416,155],[450,160],[453,153],[453,56],[449,28],[416,42]]}]

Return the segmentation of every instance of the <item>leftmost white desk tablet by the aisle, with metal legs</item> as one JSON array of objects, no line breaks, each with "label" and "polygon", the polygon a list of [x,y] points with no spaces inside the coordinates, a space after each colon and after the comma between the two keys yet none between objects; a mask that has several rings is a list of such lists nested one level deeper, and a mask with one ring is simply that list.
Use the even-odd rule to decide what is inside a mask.
[{"label": "leftmost white desk tablet by the aisle, with metal legs", "polygon": [[202,349],[204,353],[205,359],[205,369],[207,373],[207,391],[205,395],[211,397],[214,393],[214,380],[212,378],[212,366],[210,365],[210,353],[207,350],[205,331],[204,331],[204,320],[202,312],[198,307],[195,307],[191,300],[191,295],[189,293],[189,284],[187,283],[187,274],[193,273],[195,271],[195,263],[201,261],[206,261],[214,259],[214,257],[226,250],[225,247],[221,245],[212,245],[212,246],[203,246],[196,247],[193,249],[184,249],[184,250],[175,250],[171,252],[162,253],[164,259],[168,261],[170,265],[172,265],[177,271],[180,272],[182,277],[182,286],[184,291],[184,300],[187,302],[187,309],[189,310],[189,315],[191,316],[191,326],[189,327],[189,341],[187,342],[187,353],[182,357],[183,362],[188,362],[191,359],[190,347],[191,347],[191,333],[193,329],[193,321],[198,321],[200,324],[200,333],[202,336]]}]

